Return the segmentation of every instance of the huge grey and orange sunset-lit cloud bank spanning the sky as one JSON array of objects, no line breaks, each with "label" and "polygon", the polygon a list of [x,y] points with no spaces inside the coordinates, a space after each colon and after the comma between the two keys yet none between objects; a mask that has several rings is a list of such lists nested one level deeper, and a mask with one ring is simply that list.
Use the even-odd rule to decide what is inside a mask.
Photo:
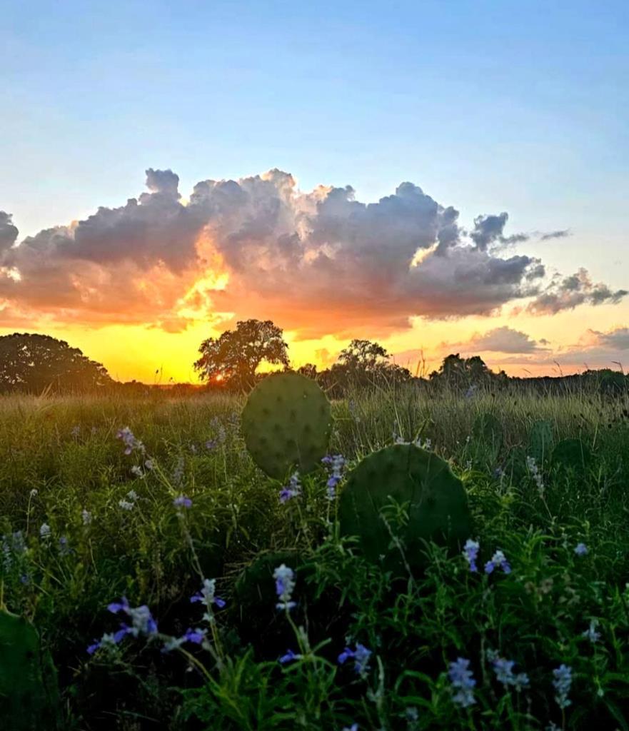
[{"label": "huge grey and orange sunset-lit cloud bank spanning the sky", "polygon": [[[301,192],[281,170],[200,181],[188,202],[178,183],[171,170],[151,168],[137,199],[19,246],[0,214],[0,298],[57,322],[174,332],[197,320],[260,317],[303,338],[385,336],[412,317],[486,315],[524,298],[538,311],[553,298],[565,306],[568,284],[547,291],[540,260],[500,253],[529,238],[505,235],[507,213],[478,216],[467,235],[456,208],[413,183],[372,203],[351,186]],[[583,270],[573,297],[604,299],[605,285],[584,278]]]}]

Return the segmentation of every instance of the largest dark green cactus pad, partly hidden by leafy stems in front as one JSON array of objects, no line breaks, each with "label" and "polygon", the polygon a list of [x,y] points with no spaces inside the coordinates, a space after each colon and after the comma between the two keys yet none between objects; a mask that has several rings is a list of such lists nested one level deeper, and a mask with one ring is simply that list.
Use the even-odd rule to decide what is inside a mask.
[{"label": "largest dark green cactus pad, partly hidden by leafy stems in front", "polygon": [[341,533],[357,535],[372,561],[391,556],[391,533],[380,513],[389,497],[410,504],[401,536],[410,564],[421,563],[421,539],[456,545],[470,537],[467,496],[448,463],[415,444],[395,444],[358,464],[339,501]]}]

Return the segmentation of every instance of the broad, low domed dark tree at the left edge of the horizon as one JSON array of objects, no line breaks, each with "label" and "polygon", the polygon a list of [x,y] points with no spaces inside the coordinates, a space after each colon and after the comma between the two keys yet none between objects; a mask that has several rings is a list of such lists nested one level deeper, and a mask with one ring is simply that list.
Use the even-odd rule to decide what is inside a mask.
[{"label": "broad, low domed dark tree at the left edge of the horizon", "polygon": [[113,384],[100,363],[49,335],[13,333],[0,337],[0,390],[41,393],[94,391]]}]

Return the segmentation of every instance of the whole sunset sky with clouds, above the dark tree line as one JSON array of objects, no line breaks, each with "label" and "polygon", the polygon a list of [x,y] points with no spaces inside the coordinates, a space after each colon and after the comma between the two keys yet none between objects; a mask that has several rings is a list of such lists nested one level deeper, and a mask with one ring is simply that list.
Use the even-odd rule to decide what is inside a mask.
[{"label": "whole sunset sky with clouds, above the dark tree line", "polygon": [[[4,4],[0,335],[629,366],[629,5]],[[156,374],[159,371],[159,374]]]}]

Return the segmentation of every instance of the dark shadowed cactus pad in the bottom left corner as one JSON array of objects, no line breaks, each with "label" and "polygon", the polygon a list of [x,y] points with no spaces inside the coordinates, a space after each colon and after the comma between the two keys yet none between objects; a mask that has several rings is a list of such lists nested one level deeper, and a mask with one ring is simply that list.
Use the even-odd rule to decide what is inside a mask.
[{"label": "dark shadowed cactus pad in the bottom left corner", "polygon": [[34,626],[0,611],[0,728],[53,731],[58,727],[56,673]]}]

